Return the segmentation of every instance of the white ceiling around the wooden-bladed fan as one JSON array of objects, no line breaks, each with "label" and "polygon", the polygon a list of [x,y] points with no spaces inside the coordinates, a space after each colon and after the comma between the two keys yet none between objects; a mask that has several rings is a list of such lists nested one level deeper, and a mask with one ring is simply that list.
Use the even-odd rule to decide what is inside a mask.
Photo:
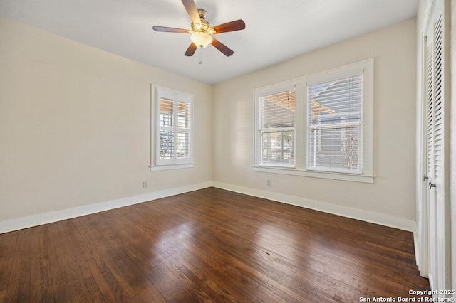
[{"label": "white ceiling around the wooden-bladed fan", "polygon": [[416,16],[418,0],[195,0],[212,26],[239,18],[244,31],[220,33],[234,50],[213,46],[193,57],[186,33],[152,26],[189,28],[180,0],[0,0],[0,15],[107,50],[162,70],[215,84],[311,50]]}]

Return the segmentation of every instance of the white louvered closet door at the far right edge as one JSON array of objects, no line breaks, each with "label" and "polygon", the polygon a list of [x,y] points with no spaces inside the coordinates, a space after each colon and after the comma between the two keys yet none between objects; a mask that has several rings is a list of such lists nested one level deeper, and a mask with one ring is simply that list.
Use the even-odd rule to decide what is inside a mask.
[{"label": "white louvered closet door at the far right edge", "polygon": [[[436,1],[442,4],[443,1]],[[429,178],[429,280],[433,290],[450,287],[450,217],[445,201],[445,35],[443,6],[436,6],[426,35],[427,177]]]}]

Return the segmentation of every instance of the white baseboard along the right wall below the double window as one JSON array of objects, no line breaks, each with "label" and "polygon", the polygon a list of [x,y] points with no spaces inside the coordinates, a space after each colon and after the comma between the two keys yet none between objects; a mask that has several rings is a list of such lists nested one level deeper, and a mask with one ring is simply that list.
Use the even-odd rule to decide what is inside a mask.
[{"label": "white baseboard along the right wall below the double window", "polygon": [[[347,206],[339,206],[331,203],[324,203],[306,198],[299,198],[296,196],[288,196],[283,193],[273,193],[271,191],[261,191],[259,189],[247,188],[232,184],[225,184],[221,182],[212,182],[212,186],[225,189],[227,191],[234,191],[237,193],[244,193],[249,196],[256,196],[259,198],[266,198],[272,201],[291,204],[294,206],[301,206],[304,208],[311,208],[315,211],[323,211],[324,213],[332,213],[334,215],[363,220],[369,223],[384,225],[400,230],[411,231],[415,234],[415,221],[393,216],[384,215],[382,213],[374,213],[373,211],[364,211],[358,208],[351,208]],[[415,237],[414,237],[415,238]]]}]

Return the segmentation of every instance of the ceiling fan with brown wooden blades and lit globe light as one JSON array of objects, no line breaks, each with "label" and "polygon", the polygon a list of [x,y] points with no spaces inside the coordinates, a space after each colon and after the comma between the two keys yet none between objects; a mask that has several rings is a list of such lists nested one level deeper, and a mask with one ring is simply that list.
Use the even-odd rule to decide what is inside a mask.
[{"label": "ceiling fan with brown wooden blades and lit globe light", "polygon": [[182,0],[187,14],[192,19],[192,29],[172,28],[166,26],[153,26],[154,31],[165,31],[168,33],[190,33],[190,39],[192,43],[187,48],[185,55],[192,56],[197,48],[205,48],[209,44],[212,44],[215,48],[220,50],[224,55],[229,57],[234,53],[233,50],[229,49],[222,42],[212,37],[217,33],[227,33],[229,31],[240,31],[245,28],[245,23],[242,19],[223,23],[218,26],[211,26],[206,21],[207,11],[204,9],[197,9],[193,0]]}]

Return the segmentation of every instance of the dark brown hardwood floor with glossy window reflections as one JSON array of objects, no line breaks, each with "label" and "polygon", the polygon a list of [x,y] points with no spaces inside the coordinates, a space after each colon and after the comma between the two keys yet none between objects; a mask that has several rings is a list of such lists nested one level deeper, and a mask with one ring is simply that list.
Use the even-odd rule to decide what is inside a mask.
[{"label": "dark brown hardwood floor with glossy window reflections", "polygon": [[0,302],[413,297],[413,234],[207,188],[0,235]]}]

